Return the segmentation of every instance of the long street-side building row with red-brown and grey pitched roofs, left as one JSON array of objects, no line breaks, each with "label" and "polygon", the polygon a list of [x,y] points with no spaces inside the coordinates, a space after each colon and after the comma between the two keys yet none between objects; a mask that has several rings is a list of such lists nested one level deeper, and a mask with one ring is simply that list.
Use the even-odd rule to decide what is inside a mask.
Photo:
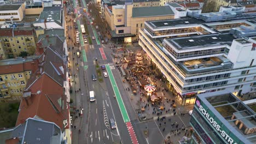
[{"label": "long street-side building row with red-brown and grey pitched roofs, left", "polygon": [[47,41],[49,35],[45,37],[37,44],[38,69],[26,84],[16,125],[29,117],[39,117],[58,125],[64,139],[71,143],[66,40],[55,35],[56,38],[49,40],[51,42],[45,47],[43,41]]}]

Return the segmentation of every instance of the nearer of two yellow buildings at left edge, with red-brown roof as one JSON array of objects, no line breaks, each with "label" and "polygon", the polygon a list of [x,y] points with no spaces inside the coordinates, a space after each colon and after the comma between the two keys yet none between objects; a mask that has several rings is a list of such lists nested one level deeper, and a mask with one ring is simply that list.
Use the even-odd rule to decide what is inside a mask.
[{"label": "nearer of two yellow buildings at left edge, with red-brown roof", "polygon": [[0,61],[0,100],[20,100],[31,73],[37,70],[38,57]]}]

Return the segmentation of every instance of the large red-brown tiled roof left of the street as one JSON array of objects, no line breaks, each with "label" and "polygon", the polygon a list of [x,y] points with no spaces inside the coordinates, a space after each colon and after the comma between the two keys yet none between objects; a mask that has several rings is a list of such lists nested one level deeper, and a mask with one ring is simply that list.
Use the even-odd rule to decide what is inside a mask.
[{"label": "large red-brown tiled roof left of the street", "polygon": [[[42,75],[33,83],[30,90],[31,93],[40,91],[40,94],[32,94],[28,100],[28,105],[26,100],[22,99],[16,125],[24,123],[25,119],[29,117],[38,116],[44,121],[54,122],[63,129],[63,120],[68,118],[63,87],[48,75]],[[59,101],[61,101],[61,105]],[[61,109],[61,106],[63,106],[63,109]],[[55,107],[57,107],[57,111]]]}]

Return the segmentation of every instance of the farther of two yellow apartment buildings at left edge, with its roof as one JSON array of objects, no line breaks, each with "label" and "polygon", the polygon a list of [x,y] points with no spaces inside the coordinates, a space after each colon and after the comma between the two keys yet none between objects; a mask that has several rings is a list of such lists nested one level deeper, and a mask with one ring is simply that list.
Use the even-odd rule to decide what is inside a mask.
[{"label": "farther of two yellow apartment buildings at left edge, with its roof", "polygon": [[0,33],[2,59],[18,57],[21,52],[34,54],[37,38],[33,27],[1,28]]}]

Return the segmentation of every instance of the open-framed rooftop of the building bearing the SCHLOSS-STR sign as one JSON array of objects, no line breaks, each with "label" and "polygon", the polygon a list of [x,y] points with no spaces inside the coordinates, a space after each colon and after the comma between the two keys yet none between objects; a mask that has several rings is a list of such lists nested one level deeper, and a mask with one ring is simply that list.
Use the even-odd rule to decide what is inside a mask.
[{"label": "open-framed rooftop of the building bearing the SCHLOSS-STR sign", "polygon": [[236,136],[236,140],[240,140],[243,143],[255,143],[256,134],[246,134],[243,129],[238,129],[238,125],[236,125],[235,122],[239,119],[248,129],[255,128],[256,113],[235,95],[228,91],[217,91],[199,94],[197,97],[201,100],[201,104],[203,103],[202,106],[208,109],[207,111],[212,111],[211,113],[215,115],[212,117],[216,118],[216,122],[223,124],[222,129],[225,130],[226,133],[231,131],[232,134],[230,134],[230,136],[232,135],[233,139],[234,136]]}]

